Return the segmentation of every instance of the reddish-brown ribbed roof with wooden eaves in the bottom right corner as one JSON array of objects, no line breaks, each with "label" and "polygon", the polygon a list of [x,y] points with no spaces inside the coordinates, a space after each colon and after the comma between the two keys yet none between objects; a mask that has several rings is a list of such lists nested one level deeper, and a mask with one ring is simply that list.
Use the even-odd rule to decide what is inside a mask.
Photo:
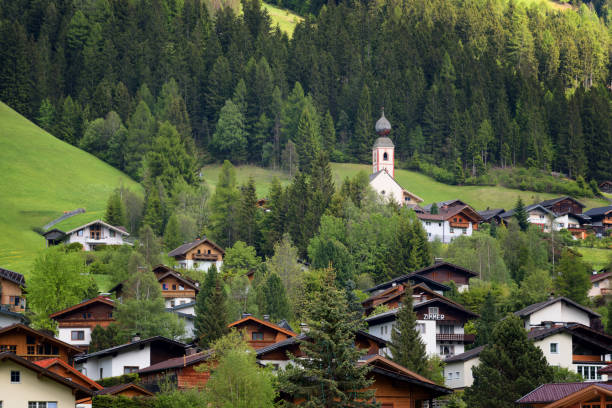
[{"label": "reddish-brown ribbed roof with wooden eaves in the bottom right corner", "polygon": [[516,401],[521,408],[610,408],[610,383],[553,383],[540,385]]}]

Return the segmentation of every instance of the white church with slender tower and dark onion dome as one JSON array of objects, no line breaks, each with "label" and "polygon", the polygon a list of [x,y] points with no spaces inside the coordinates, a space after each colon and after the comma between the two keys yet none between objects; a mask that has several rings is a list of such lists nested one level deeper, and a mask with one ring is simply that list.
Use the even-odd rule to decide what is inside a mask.
[{"label": "white church with slender tower and dark onion dome", "polygon": [[389,138],[391,123],[382,116],[375,125],[378,138],[372,147],[372,174],[370,174],[370,187],[382,197],[393,200],[399,205],[416,207],[423,199],[403,188],[395,180],[395,145]]}]

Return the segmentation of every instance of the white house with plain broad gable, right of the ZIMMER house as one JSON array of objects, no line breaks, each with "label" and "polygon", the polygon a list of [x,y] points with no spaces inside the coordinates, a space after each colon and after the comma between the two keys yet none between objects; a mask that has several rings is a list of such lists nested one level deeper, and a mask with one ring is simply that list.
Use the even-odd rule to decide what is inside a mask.
[{"label": "white house with plain broad gable, right of the ZIMMER house", "polygon": [[580,323],[591,327],[601,316],[566,297],[534,303],[515,312],[525,322],[525,330],[550,325]]}]

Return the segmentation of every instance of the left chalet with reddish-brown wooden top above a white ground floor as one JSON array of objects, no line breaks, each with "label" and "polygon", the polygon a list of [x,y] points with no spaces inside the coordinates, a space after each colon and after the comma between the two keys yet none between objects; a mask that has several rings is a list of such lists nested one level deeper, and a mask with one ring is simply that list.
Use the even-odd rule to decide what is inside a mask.
[{"label": "left chalet with reddish-brown wooden top above a white ground floor", "polygon": [[105,296],[87,299],[79,304],[55,312],[49,318],[58,323],[58,338],[87,351],[91,332],[96,326],[108,327],[115,321],[115,302]]}]

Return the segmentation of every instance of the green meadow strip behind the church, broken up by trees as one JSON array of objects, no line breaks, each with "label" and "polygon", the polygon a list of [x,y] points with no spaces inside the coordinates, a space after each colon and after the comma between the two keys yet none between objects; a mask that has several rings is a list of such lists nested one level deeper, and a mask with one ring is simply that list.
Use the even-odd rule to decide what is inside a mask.
[{"label": "green meadow strip behind the church, broken up by trees", "polygon": [[[204,179],[213,189],[219,178],[220,169],[220,166],[215,165],[206,166],[202,171]],[[332,171],[336,186],[338,187],[344,178],[352,177],[359,171],[369,173],[371,167],[365,164],[333,163]],[[283,184],[289,183],[289,177],[280,171],[266,170],[253,166],[238,166],[236,168],[236,177],[239,184],[244,183],[249,176],[255,178],[257,193],[260,197],[268,194],[270,182],[274,177],[278,177]],[[407,170],[396,170],[395,177],[405,189],[423,198],[425,203],[460,198],[477,210],[483,210],[487,207],[510,209],[514,206],[519,195],[523,198],[525,203],[532,203],[559,196],[558,194],[520,191],[499,186],[449,186],[439,183],[431,177],[421,173]],[[587,208],[609,205],[606,201],[600,199],[581,199],[580,201],[582,201]]]}]

